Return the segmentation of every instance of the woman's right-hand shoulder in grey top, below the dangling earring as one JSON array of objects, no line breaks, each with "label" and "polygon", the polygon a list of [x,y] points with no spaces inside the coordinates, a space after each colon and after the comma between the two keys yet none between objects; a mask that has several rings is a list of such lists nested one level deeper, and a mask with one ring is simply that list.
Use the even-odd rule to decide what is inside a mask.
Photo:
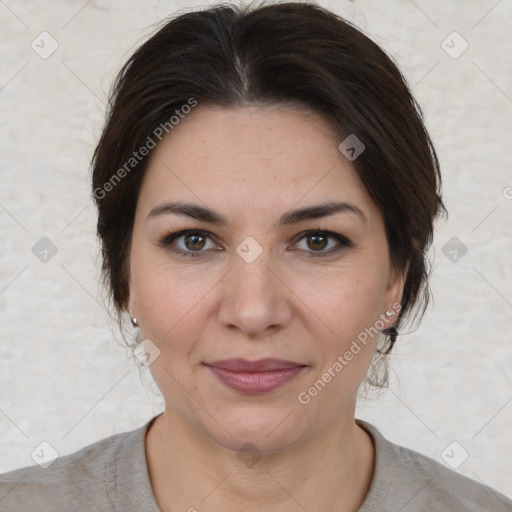
[{"label": "woman's right-hand shoulder in grey top, below the dangling earring", "polygon": [[357,420],[373,439],[373,480],[361,512],[511,512],[503,494],[421,453],[391,443],[372,425]]}]

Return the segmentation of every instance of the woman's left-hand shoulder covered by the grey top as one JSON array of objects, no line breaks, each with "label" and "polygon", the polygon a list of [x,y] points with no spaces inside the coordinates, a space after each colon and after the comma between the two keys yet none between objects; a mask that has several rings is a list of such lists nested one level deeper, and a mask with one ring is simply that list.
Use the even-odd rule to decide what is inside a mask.
[{"label": "woman's left-hand shoulder covered by the grey top", "polygon": [[133,473],[145,476],[147,425],[58,457],[46,468],[27,466],[0,474],[0,510],[112,510],[120,479],[123,486]]}]

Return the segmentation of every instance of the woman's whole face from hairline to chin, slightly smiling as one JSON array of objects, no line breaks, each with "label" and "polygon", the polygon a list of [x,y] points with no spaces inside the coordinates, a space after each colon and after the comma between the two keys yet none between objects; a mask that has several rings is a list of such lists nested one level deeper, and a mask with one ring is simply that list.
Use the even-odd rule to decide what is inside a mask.
[{"label": "woman's whole face from hairline to chin, slightly smiling", "polygon": [[[199,105],[151,155],[129,307],[166,413],[223,446],[278,451],[353,422],[396,319],[403,275],[340,142],[313,112]],[[327,203],[344,206],[300,213]],[[242,364],[267,358],[288,363]]]}]

